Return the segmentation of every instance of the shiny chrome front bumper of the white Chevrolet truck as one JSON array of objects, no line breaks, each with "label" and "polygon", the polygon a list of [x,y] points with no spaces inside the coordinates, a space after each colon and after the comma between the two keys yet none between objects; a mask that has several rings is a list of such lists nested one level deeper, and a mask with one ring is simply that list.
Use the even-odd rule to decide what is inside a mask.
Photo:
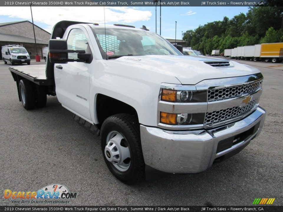
[{"label": "shiny chrome front bumper of the white Chevrolet truck", "polygon": [[[261,132],[265,110],[210,130],[172,131],[141,125],[146,165],[168,173],[199,173],[241,151]],[[229,145],[231,144],[231,145]]]}]

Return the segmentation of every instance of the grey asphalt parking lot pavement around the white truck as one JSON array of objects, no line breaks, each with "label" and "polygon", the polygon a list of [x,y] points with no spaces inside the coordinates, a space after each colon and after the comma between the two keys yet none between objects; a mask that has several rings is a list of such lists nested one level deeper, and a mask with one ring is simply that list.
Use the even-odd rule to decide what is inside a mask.
[{"label": "grey asphalt parking lot pavement around the white truck", "polygon": [[[5,189],[37,191],[58,183],[78,193],[68,205],[251,205],[255,198],[283,205],[283,63],[240,62],[264,75],[260,105],[267,115],[261,135],[203,173],[133,186],[111,175],[99,137],[74,122],[56,97],[47,97],[42,109],[25,110],[9,64],[0,62],[1,195]],[[0,205],[15,204],[1,196]]]}]

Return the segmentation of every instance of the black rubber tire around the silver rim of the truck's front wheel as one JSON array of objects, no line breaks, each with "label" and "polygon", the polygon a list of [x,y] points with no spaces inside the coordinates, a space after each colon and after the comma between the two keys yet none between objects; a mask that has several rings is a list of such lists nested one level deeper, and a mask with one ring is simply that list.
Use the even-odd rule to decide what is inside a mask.
[{"label": "black rubber tire around the silver rim of the truck's front wheel", "polygon": [[[122,144],[123,141],[125,143],[124,146],[129,148],[129,167],[125,171],[119,170],[117,165],[108,161],[106,158],[107,136],[111,135],[113,132],[118,132],[118,134],[123,137],[122,140],[119,139],[121,142],[120,144]],[[111,138],[114,138],[115,136],[116,135]],[[108,143],[111,143],[111,140],[109,140]],[[144,176],[145,165],[141,149],[139,123],[132,115],[125,113],[116,114],[108,117],[103,122],[101,126],[101,150],[109,170],[123,183],[128,185],[134,184],[141,180],[141,178]],[[123,158],[122,154],[121,158]]]}]

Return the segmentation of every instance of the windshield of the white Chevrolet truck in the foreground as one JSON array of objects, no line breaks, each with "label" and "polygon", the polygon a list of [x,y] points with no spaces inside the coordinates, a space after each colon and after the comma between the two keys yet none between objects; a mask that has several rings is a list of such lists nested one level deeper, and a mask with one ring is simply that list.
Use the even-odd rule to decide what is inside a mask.
[{"label": "windshield of the white Chevrolet truck in the foreground", "polygon": [[[125,55],[182,55],[159,35],[131,29],[92,29],[101,54],[106,59]],[[106,31],[106,35],[105,35]]]}]

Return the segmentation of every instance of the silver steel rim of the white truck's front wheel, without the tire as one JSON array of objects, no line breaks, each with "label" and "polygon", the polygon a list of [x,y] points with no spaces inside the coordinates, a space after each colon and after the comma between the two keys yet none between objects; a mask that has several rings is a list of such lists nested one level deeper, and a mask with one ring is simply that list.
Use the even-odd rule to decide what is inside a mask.
[{"label": "silver steel rim of the white truck's front wheel, without the tire", "polygon": [[126,139],[117,131],[111,131],[106,138],[104,150],[106,159],[121,172],[129,169],[131,154]]}]

